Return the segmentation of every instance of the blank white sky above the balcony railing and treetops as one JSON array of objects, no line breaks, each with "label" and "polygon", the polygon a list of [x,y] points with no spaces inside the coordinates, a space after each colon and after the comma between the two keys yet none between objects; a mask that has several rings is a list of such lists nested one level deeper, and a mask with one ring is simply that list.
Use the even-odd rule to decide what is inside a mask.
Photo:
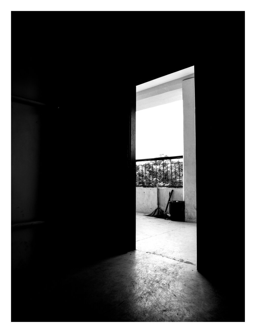
[{"label": "blank white sky above the balcony railing and treetops", "polygon": [[183,101],[136,111],[136,159],[183,155]]}]

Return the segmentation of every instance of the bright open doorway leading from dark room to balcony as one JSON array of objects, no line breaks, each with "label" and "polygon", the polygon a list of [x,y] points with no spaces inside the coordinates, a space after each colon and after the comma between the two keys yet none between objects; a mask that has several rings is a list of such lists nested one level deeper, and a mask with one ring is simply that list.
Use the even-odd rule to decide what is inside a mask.
[{"label": "bright open doorway leading from dark room to balcony", "polygon": [[136,88],[136,249],[196,270],[194,67]]}]

